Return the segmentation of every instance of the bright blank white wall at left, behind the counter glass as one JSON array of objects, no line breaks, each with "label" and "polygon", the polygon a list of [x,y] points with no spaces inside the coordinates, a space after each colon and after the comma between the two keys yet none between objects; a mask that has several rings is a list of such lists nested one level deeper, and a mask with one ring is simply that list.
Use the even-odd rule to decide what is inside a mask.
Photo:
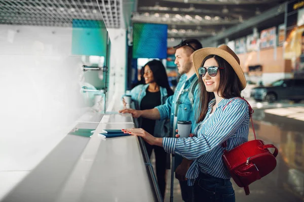
[{"label": "bright blank white wall at left, behind the counter glass", "polygon": [[0,198],[88,110],[71,36],[72,28],[0,25]]}]

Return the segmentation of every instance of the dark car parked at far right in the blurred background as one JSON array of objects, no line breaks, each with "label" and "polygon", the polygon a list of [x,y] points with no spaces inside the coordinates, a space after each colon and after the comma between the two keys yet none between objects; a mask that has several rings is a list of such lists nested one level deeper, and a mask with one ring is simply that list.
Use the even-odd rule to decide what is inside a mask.
[{"label": "dark car parked at far right in the blurred background", "polygon": [[259,86],[251,90],[251,97],[256,101],[274,103],[280,99],[290,99],[295,103],[304,99],[303,79],[280,79],[268,86]]}]

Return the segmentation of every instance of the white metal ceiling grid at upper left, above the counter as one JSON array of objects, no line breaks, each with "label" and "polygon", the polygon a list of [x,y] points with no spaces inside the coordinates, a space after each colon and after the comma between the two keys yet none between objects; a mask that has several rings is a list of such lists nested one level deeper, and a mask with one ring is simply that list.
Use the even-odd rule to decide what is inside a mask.
[{"label": "white metal ceiling grid at upper left, above the counter", "polygon": [[120,5],[120,0],[0,0],[0,24],[71,27],[78,19],[104,20],[106,27],[118,28]]}]

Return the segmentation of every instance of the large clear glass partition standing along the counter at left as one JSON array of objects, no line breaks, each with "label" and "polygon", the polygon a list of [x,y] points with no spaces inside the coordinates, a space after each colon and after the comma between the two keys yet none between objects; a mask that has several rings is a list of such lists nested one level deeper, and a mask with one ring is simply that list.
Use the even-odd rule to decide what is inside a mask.
[{"label": "large clear glass partition standing along the counter at left", "polygon": [[61,3],[0,2],[0,171],[8,186],[71,130],[94,130],[106,109],[110,42],[98,5]]}]

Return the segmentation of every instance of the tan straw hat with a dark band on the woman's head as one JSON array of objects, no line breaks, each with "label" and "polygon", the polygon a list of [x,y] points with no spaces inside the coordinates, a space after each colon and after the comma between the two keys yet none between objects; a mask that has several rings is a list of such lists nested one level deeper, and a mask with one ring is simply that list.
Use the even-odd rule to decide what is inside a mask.
[{"label": "tan straw hat with a dark band on the woman's head", "polygon": [[236,72],[236,74],[238,75],[241,81],[242,84],[241,90],[243,90],[246,87],[246,79],[243,70],[240,66],[240,59],[227,45],[221,45],[219,47],[201,48],[192,54],[192,61],[198,77],[199,77],[198,69],[201,67],[203,60],[209,55],[216,55],[227,61],[232,66],[232,68],[234,69],[234,71]]}]

